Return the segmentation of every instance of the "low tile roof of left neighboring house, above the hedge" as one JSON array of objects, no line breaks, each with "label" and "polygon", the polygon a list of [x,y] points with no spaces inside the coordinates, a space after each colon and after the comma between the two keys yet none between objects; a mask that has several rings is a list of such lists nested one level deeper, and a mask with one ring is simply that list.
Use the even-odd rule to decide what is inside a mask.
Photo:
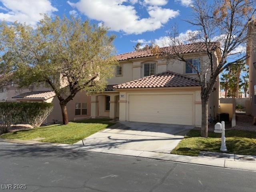
[{"label": "low tile roof of left neighboring house, above the hedge", "polygon": [[54,91],[32,91],[22,93],[20,95],[12,97],[13,99],[43,99],[47,100],[54,97],[56,94]]}]

